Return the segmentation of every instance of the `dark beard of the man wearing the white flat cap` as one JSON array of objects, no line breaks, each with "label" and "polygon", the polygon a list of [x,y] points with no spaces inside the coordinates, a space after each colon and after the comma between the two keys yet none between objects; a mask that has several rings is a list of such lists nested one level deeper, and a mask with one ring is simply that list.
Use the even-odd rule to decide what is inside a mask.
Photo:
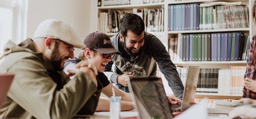
[{"label": "dark beard of the man wearing the white flat cap", "polygon": [[56,58],[59,57],[59,44],[55,44],[55,47],[53,49],[53,52],[51,54],[51,61],[52,61],[52,66],[53,66],[53,70],[54,71],[62,71],[64,69],[63,66],[61,66],[61,57],[59,59],[56,60]]}]

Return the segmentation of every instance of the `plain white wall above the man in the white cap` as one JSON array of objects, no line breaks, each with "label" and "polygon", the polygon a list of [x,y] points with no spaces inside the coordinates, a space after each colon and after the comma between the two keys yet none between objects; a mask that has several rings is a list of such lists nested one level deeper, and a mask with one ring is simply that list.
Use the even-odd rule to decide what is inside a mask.
[{"label": "plain white wall above the man in the white cap", "polygon": [[[81,39],[92,31],[90,22],[91,1],[97,0],[28,0],[27,38],[33,38],[37,26],[46,19],[67,22]],[[97,2],[94,3],[96,8]],[[93,15],[95,17],[95,15]],[[95,25],[96,26],[96,25]],[[75,49],[74,54],[80,51]]]}]

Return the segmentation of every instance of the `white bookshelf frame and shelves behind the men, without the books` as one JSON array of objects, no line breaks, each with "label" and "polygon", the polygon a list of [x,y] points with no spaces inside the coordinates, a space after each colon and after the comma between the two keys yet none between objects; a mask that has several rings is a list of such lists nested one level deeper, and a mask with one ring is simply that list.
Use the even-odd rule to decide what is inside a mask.
[{"label": "white bookshelf frame and shelves behind the men, without the books", "polygon": [[[104,0],[101,0],[104,1]],[[178,37],[178,34],[201,34],[201,33],[227,33],[227,32],[245,32],[248,33],[250,36],[250,40],[255,30],[255,24],[252,22],[252,5],[254,0],[186,0],[186,1],[174,1],[174,0],[162,0],[163,2],[160,3],[146,3],[146,4],[133,4],[133,5],[110,5],[110,6],[98,6],[96,7],[96,13],[97,15],[94,15],[97,19],[99,18],[100,12],[106,12],[110,14],[111,12],[115,10],[119,11],[126,11],[126,12],[132,12],[133,8],[143,9],[153,9],[153,8],[164,8],[164,30],[163,31],[147,31],[149,33],[152,33],[156,35],[162,43],[165,45],[166,49],[168,49],[168,39]],[[239,28],[239,29],[212,29],[212,30],[186,30],[186,31],[168,31],[168,5],[176,5],[176,4],[192,4],[192,3],[203,3],[208,1],[224,1],[224,2],[242,2],[242,4],[246,4],[248,8],[248,20],[249,20],[249,28]],[[95,5],[96,6],[96,5]],[[99,19],[98,19],[99,22]],[[97,23],[97,30],[99,30],[99,24]],[[105,32],[107,35],[114,36],[117,33],[108,33]],[[200,68],[220,68],[220,69],[230,69],[231,66],[246,66],[246,61],[224,61],[224,62],[218,62],[218,61],[188,61],[188,62],[181,62],[181,61],[173,61],[173,63],[177,66],[200,66]],[[163,80],[165,78],[163,75],[161,76]],[[169,87],[168,84],[166,87]],[[172,92],[167,92],[172,93]],[[209,99],[239,99],[242,96],[242,94],[214,94],[214,93],[202,93],[197,92],[196,98],[203,98],[208,97]]]}]

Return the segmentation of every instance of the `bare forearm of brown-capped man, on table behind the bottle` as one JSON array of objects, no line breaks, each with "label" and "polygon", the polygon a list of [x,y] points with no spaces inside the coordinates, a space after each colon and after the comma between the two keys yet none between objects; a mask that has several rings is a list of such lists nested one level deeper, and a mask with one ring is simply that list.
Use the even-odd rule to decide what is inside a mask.
[{"label": "bare forearm of brown-capped man, on table behind the bottle", "polygon": [[[134,109],[132,102],[120,101],[121,111],[130,111]],[[100,97],[96,112],[109,112],[110,111],[110,99]]]}]

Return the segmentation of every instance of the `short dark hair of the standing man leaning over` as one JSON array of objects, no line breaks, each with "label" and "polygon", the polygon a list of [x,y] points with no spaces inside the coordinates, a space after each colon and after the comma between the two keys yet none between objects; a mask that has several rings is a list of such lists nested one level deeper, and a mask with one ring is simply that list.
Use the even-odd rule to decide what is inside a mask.
[{"label": "short dark hair of the standing man leaning over", "polygon": [[120,20],[119,28],[120,33],[124,38],[126,37],[128,30],[139,36],[145,30],[145,24],[139,15],[126,13]]}]

